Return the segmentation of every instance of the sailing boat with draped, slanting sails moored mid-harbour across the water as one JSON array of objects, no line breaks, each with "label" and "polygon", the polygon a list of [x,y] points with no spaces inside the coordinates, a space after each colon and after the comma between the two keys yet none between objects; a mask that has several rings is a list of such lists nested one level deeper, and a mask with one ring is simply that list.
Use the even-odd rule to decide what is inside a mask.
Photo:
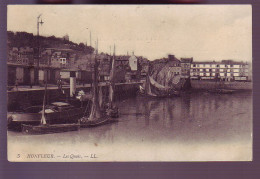
[{"label": "sailing boat with draped, slanting sails moored mid-harbour across the water", "polygon": [[145,94],[150,97],[171,97],[178,96],[180,94],[179,91],[174,90],[173,88],[163,86],[156,82],[150,76],[150,66],[148,66],[148,73],[146,76],[145,88],[140,86],[141,94]]}]

